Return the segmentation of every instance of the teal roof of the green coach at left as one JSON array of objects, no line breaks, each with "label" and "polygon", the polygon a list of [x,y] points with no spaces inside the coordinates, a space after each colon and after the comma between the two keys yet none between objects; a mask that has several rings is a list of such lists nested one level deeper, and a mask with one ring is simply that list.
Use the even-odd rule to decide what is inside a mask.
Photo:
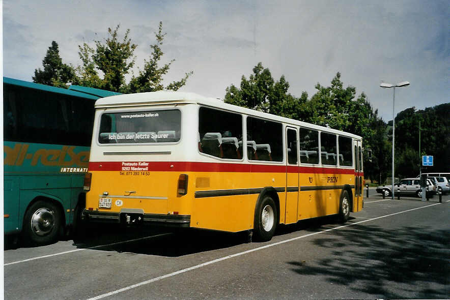
[{"label": "teal roof of the green coach at left", "polygon": [[33,89],[40,89],[41,91],[51,92],[51,93],[58,93],[58,94],[64,94],[74,97],[81,97],[81,98],[88,98],[88,99],[94,99],[97,100],[102,97],[108,97],[113,95],[120,95],[120,93],[114,93],[109,91],[104,91],[103,89],[93,88],[93,87],[86,87],[86,86],[79,86],[74,85],[72,88],[69,87],[69,89],[61,88],[61,87],[55,87],[35,82],[29,82],[9,77],[3,77],[3,83],[7,84],[13,84],[13,85],[19,85],[27,88],[33,88]]}]

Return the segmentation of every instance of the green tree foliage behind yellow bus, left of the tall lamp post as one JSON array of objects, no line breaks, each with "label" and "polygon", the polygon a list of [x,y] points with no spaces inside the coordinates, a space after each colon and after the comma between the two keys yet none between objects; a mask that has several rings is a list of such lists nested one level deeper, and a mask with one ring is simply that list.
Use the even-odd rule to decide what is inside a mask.
[{"label": "green tree foliage behind yellow bus, left of the tall lamp post", "polygon": [[372,162],[364,157],[364,164],[368,167],[365,174],[378,180],[385,177],[388,157],[386,124],[364,93],[355,99],[356,88],[344,87],[341,73],[334,76],[330,86],[317,83],[316,93],[308,99],[306,92],[299,98],[289,94],[289,82],[285,77],[281,76],[275,82],[262,63],[252,71],[249,79],[242,75],[239,88],[233,84],[227,87],[225,102],[360,135],[363,146],[371,148],[374,156]]}]

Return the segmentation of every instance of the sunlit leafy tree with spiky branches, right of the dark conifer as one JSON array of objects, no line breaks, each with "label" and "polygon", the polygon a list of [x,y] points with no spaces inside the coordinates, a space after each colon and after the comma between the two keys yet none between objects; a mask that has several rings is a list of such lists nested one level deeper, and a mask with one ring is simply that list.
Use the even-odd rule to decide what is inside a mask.
[{"label": "sunlit leafy tree with spiky branches, right of the dark conifer", "polygon": [[[129,83],[125,82],[125,76],[135,64],[134,50],[136,44],[131,42],[129,38],[130,29],[127,29],[124,38],[120,41],[119,36],[120,25],[113,30],[108,28],[108,38],[102,41],[94,41],[95,49],[84,43],[78,46],[78,55],[82,65],[78,66],[77,73],[81,85],[106,89],[113,92],[121,93],[141,93],[160,91],[161,89],[170,89],[177,91],[184,86],[187,79],[193,72],[188,72],[179,81],[174,81],[167,86],[163,85],[163,77],[170,69],[171,64],[175,61],[172,59],[170,63],[159,67],[158,64],[164,54],[161,46],[165,34],[162,33],[162,22],[159,22],[158,33],[155,33],[156,44],[151,45],[152,53],[150,59],[144,61],[144,68],[139,69],[138,75],[132,76]],[[103,74],[100,77],[99,72]]]}]

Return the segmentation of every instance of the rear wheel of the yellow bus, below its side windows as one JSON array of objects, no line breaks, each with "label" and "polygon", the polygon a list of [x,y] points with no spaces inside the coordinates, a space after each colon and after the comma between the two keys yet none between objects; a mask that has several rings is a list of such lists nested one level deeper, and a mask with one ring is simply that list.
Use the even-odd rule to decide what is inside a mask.
[{"label": "rear wheel of the yellow bus, below its side windows", "polygon": [[254,234],[257,241],[267,242],[272,239],[278,220],[277,214],[275,201],[270,196],[264,196],[263,200],[258,202],[254,223]]}]

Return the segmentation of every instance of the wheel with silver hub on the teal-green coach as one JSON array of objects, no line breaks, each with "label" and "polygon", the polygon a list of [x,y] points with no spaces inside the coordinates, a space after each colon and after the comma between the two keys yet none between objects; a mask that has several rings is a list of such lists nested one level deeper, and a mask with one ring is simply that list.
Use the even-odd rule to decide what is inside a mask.
[{"label": "wheel with silver hub on the teal-green coach", "polygon": [[59,208],[44,200],[33,203],[23,220],[25,242],[33,245],[47,245],[57,240],[61,229]]}]

